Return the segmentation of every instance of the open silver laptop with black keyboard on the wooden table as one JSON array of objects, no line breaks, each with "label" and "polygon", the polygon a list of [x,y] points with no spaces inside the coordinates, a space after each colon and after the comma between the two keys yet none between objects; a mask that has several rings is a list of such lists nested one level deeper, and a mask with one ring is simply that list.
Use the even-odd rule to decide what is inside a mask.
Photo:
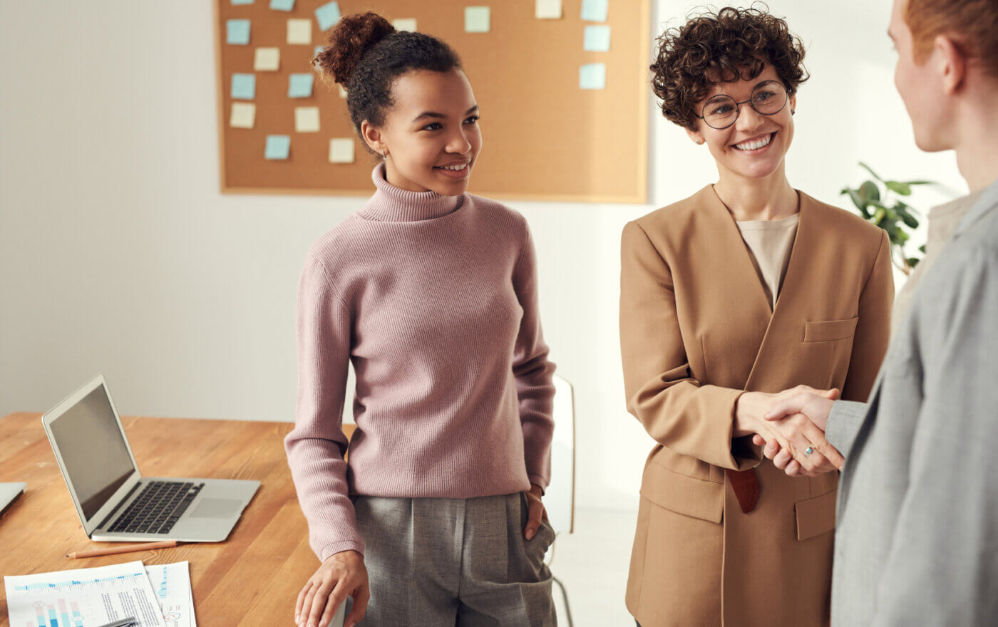
[{"label": "open silver laptop with black keyboard on the wooden table", "polygon": [[42,425],[92,540],[221,542],[259,487],[142,476],[101,375],[42,416]]}]

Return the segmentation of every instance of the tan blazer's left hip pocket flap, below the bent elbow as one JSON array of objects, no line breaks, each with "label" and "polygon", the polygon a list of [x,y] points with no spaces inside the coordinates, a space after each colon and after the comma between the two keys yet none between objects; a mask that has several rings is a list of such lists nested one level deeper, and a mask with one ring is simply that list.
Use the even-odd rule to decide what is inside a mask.
[{"label": "tan blazer's left hip pocket flap, below the bent elbow", "polygon": [[656,462],[645,465],[641,495],[685,516],[720,523],[725,512],[725,484],[674,472]]}]

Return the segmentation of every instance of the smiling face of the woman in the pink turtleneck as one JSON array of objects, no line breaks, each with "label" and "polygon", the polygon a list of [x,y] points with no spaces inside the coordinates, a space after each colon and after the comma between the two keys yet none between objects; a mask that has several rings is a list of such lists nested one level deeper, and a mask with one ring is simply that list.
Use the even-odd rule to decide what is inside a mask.
[{"label": "smiling face of the woman in the pink turtleneck", "polygon": [[414,70],[392,85],[384,124],[361,125],[374,152],[386,155],[388,182],[409,191],[453,196],[468,188],[482,148],[478,106],[460,70]]}]

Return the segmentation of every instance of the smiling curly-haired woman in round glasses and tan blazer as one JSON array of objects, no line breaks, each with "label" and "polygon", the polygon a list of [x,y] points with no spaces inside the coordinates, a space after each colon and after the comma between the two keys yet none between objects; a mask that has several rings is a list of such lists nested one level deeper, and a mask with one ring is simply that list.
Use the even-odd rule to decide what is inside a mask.
[{"label": "smiling curly-haired woman in round glasses and tan blazer", "polygon": [[[628,410],[656,441],[627,590],[643,627],[828,623],[841,458],[823,425],[762,417],[795,386],[866,399],[893,283],[883,231],[786,179],[803,54],[754,9],[659,38],[663,115],[718,179],[623,233]],[[760,462],[754,433],[786,443],[800,475]]]}]

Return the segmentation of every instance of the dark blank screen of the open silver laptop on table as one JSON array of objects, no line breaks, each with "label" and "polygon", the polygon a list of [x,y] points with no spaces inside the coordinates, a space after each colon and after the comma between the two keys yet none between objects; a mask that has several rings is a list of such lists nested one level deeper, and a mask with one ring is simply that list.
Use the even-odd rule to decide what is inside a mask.
[{"label": "dark blank screen of the open silver laptop on table", "polygon": [[89,521],[132,472],[125,438],[118,428],[107,389],[97,386],[50,425],[66,480]]}]

